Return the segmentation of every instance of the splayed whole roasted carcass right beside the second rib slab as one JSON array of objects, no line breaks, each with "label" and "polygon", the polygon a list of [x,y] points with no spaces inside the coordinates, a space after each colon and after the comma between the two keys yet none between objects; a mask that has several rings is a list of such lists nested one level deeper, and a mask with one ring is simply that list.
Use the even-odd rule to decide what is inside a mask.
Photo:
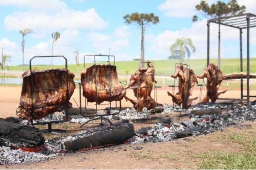
[{"label": "splayed whole roasted carcass right beside the second rib slab", "polygon": [[128,86],[125,87],[125,89],[128,89],[133,86],[134,96],[137,100],[132,100],[127,96],[125,96],[125,99],[129,100],[138,112],[141,112],[144,107],[150,110],[154,109],[157,105],[161,106],[161,104],[156,103],[151,97],[153,82],[157,83],[155,80],[154,66],[150,61],[147,61],[147,67],[136,70],[131,75]]}]

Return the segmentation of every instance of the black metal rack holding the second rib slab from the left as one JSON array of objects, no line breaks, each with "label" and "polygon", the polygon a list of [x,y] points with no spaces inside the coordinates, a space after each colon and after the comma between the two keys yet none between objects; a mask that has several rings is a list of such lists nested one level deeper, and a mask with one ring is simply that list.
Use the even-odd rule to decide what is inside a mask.
[{"label": "black metal rack holding the second rib slab from the left", "polygon": [[[85,67],[85,57],[89,57],[89,56],[94,56],[94,66],[95,66],[95,69],[94,69],[94,71],[96,72],[96,62],[107,62],[108,63],[108,66],[109,66],[109,69],[110,69],[110,57],[113,57],[114,58],[114,65],[115,65],[115,56],[114,55],[84,55],[84,57],[83,57],[83,67]],[[97,56],[100,56],[100,57],[107,57],[108,59],[107,60],[96,60],[96,57]],[[110,73],[110,72],[109,72]],[[97,82],[97,75],[96,75],[96,73],[94,74],[95,75],[95,80],[96,80],[96,82]],[[108,75],[109,76],[109,82],[110,82],[110,87],[109,87],[109,89],[110,89],[110,91],[109,91],[109,93],[111,94],[111,76],[110,75]],[[83,116],[83,117],[85,117],[85,118],[89,118],[89,117],[98,117],[98,118],[94,118],[94,119],[90,119],[90,120],[88,120],[88,121],[86,121],[85,123],[83,123],[80,127],[82,127],[83,125],[85,125],[86,123],[88,123],[89,121],[91,121],[91,120],[95,120],[95,119],[101,119],[101,125],[103,124],[102,123],[102,120],[104,120],[104,121],[106,121],[106,123],[108,124],[108,125],[110,125],[110,124],[112,124],[111,123],[111,121],[109,120],[109,119],[107,119],[107,118],[105,118],[104,116],[110,116],[110,115],[118,115],[120,112],[121,112],[121,110],[122,110],[122,106],[121,106],[121,100],[119,101],[119,108],[118,108],[118,106],[117,106],[117,101],[116,101],[116,107],[115,108],[112,108],[112,104],[111,104],[111,102],[109,102],[108,104],[104,104],[104,105],[109,105],[110,107],[109,107],[109,113],[108,114],[100,114],[98,111],[103,111],[103,110],[105,110],[105,109],[98,109],[98,104],[97,104],[97,85],[96,85],[96,102],[95,102],[95,108],[93,108],[93,109],[89,109],[89,108],[87,108],[87,105],[86,105],[86,97],[84,97],[84,101],[85,101],[85,111],[87,111],[87,112],[91,112],[91,111],[93,111],[95,114],[93,114],[93,115],[88,115],[88,114],[83,114],[82,112],[81,112],[81,104],[80,104],[80,113],[81,113],[81,115]],[[111,98],[111,95],[110,95],[110,98]],[[80,102],[81,102],[81,92],[80,92]],[[111,114],[110,113],[110,111],[112,110],[112,109],[119,109],[119,112],[117,112],[117,113],[113,113],[113,114]]]}]

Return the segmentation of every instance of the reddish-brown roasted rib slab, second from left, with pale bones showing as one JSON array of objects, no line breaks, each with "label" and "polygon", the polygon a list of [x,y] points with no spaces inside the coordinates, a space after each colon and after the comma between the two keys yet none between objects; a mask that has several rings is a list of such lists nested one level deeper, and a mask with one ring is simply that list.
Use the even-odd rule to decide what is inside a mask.
[{"label": "reddish-brown roasted rib slab, second from left, with pale bones showing", "polygon": [[92,65],[81,73],[83,96],[87,102],[120,101],[126,90],[120,84],[114,65]]}]

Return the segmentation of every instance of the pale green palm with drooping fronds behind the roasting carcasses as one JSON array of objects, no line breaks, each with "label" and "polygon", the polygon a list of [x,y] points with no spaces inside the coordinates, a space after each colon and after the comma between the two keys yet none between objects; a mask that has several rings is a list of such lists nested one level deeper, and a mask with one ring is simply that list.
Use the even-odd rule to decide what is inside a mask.
[{"label": "pale green palm with drooping fronds behind the roasting carcasses", "polygon": [[179,62],[183,62],[183,59],[185,57],[185,54],[187,54],[187,59],[190,57],[191,52],[189,51],[191,49],[193,53],[196,51],[196,48],[194,44],[192,43],[192,40],[190,38],[177,38],[176,42],[171,45],[170,51],[172,55],[176,53],[177,50],[179,50]]}]

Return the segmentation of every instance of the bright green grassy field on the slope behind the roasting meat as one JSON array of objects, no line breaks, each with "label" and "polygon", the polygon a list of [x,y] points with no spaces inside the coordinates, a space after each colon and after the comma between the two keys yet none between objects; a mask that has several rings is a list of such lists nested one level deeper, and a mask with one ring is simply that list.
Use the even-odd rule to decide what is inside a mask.
[{"label": "bright green grassy field on the slope behind the roasting meat", "polygon": [[[154,63],[156,76],[171,76],[174,73],[175,64],[179,63],[179,60],[152,60]],[[211,59],[210,63],[214,63],[217,65],[217,59]],[[86,63],[85,67],[92,65],[93,63]],[[103,64],[103,63],[99,63]],[[113,63],[111,63],[113,64]],[[138,67],[138,61],[117,61],[117,72],[118,75],[130,75],[134,73]],[[205,68],[207,62],[206,59],[190,59],[184,60],[183,64],[188,64],[191,69],[194,70],[196,75],[200,75]],[[29,66],[24,66],[25,70],[29,70]],[[64,65],[54,65],[53,68],[63,68]],[[32,69],[42,70],[50,68],[50,65],[34,65]],[[246,72],[246,59],[243,59],[243,72]],[[69,64],[68,69],[77,73],[77,65]],[[80,73],[82,72],[83,64],[80,64]],[[10,71],[22,71],[22,66],[9,66]],[[240,61],[238,58],[225,58],[221,60],[221,71],[223,73],[232,73],[232,72],[240,72]],[[256,73],[256,58],[250,59],[250,72]]]}]

